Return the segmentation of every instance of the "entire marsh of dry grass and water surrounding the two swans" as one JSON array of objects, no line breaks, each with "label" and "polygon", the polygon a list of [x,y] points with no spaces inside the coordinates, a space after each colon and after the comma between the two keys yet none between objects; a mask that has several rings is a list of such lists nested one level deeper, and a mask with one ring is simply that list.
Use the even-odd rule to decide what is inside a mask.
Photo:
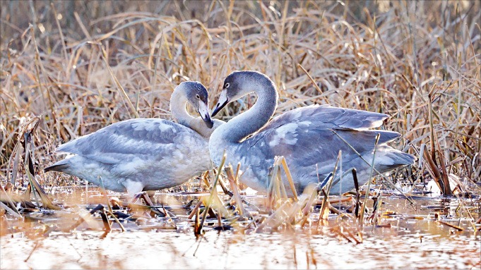
[{"label": "entire marsh of dry grass and water surrounding the two swans", "polygon": [[[478,1],[1,1],[0,268],[481,269],[480,16]],[[185,80],[212,108],[232,70],[273,80],[275,116],[388,114],[416,164],[328,200],[275,179],[246,191],[232,164],[139,205],[43,173],[61,142],[171,120]]]}]

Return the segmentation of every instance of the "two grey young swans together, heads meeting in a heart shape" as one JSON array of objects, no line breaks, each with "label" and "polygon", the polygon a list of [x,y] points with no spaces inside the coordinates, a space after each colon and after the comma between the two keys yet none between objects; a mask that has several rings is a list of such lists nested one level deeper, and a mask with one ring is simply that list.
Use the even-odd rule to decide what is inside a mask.
[{"label": "two grey young swans together, heads meeting in a heart shape", "polygon": [[[257,95],[251,109],[227,123],[211,118],[251,92]],[[201,117],[189,115],[186,103]],[[399,133],[369,130],[383,123],[388,117],[384,113],[311,105],[271,120],[277,103],[274,83],[256,71],[228,75],[211,115],[206,87],[200,82],[182,82],[170,99],[177,123],[137,118],[108,125],[60,145],[56,152],[71,155],[44,171],[61,171],[133,195],[181,185],[208,171],[211,160],[218,166],[225,153],[225,164],[241,164],[241,183],[266,192],[274,159],[283,156],[297,192],[302,192],[308,185],[322,188],[319,183],[333,171],[339,152],[345,171],[356,168],[360,185],[369,180],[373,158],[374,175],[415,162],[411,154],[386,145],[400,137]],[[338,173],[334,177],[340,178]],[[354,188],[350,173],[341,179],[331,194]],[[292,195],[292,190],[287,192]]]}]

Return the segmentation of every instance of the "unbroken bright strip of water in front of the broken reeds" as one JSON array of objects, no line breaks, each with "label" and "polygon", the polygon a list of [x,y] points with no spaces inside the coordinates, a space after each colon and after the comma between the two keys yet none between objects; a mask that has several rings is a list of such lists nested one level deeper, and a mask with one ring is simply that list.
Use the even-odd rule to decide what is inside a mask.
[{"label": "unbroken bright strip of water in front of the broken reeds", "polygon": [[[388,233],[391,234],[391,233]],[[480,267],[480,241],[465,235],[367,236],[359,245],[326,235],[236,235],[205,238],[167,231],[54,234],[38,242],[2,238],[1,269],[472,269]],[[420,241],[420,236],[422,242]],[[40,243],[34,250],[35,245]],[[33,252],[32,252],[33,250]],[[31,256],[30,252],[32,252]],[[315,262],[313,261],[315,259]],[[25,262],[25,259],[28,259]],[[309,266],[308,266],[309,263]]]}]

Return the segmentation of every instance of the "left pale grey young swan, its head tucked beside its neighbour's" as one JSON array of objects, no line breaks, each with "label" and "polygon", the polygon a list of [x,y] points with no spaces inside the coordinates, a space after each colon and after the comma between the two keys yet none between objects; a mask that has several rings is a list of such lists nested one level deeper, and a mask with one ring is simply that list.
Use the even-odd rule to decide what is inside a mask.
[{"label": "left pale grey young swan, its head tucked beside its neighbour's", "polygon": [[[186,111],[191,104],[201,117]],[[181,185],[210,168],[208,138],[222,121],[212,121],[208,92],[200,82],[182,82],[170,98],[170,111],[178,123],[158,118],[137,118],[113,123],[78,137],[55,152],[73,154],[44,171],[59,171],[129,192],[161,190]]]}]

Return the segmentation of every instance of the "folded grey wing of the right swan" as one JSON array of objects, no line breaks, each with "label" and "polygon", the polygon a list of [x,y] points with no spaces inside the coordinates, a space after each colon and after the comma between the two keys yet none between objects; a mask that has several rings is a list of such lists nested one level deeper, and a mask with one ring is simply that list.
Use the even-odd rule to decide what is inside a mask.
[{"label": "folded grey wing of the right swan", "polygon": [[[376,135],[379,145],[396,139],[399,133],[367,130],[381,125],[387,115],[331,106],[306,106],[287,111],[264,126],[244,143],[246,151],[259,148],[266,159],[284,156],[295,166],[333,164],[341,150],[347,159],[356,152],[371,152]],[[354,150],[355,149],[355,150]]]}]

